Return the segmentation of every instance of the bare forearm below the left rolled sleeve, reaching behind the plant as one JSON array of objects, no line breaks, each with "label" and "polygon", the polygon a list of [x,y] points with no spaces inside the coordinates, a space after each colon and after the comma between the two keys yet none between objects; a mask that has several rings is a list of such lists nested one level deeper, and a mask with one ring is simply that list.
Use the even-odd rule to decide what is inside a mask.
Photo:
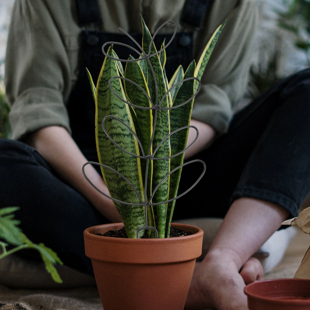
[{"label": "bare forearm below the left rolled sleeve, reaching behind the plant", "polygon": [[[86,197],[107,219],[120,222],[121,218],[111,199],[97,192],[82,174],[87,159],[68,131],[60,126],[49,126],[29,134],[25,142],[35,148],[67,184]],[[94,167],[87,165],[85,173],[102,192],[108,188]]]}]

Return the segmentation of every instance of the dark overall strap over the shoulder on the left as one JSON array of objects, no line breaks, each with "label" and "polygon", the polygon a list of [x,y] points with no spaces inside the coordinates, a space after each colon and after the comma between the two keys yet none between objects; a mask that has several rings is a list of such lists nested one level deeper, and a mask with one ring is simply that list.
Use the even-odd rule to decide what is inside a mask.
[{"label": "dark overall strap over the shoulder on the left", "polygon": [[97,0],[76,0],[78,25],[101,24],[100,10]]}]

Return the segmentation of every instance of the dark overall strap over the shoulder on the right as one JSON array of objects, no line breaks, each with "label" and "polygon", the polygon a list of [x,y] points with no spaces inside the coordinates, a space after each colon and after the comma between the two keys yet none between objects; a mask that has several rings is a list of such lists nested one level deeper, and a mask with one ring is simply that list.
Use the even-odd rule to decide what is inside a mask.
[{"label": "dark overall strap over the shoulder on the right", "polygon": [[182,12],[181,24],[189,24],[202,29],[201,23],[213,0],[186,0]]}]

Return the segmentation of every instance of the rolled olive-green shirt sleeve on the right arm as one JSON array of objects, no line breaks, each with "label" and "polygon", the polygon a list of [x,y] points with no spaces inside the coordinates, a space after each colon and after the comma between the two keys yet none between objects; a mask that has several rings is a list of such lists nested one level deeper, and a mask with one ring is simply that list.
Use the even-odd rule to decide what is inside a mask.
[{"label": "rolled olive-green shirt sleeve on the right arm", "polygon": [[212,33],[225,19],[227,23],[202,76],[192,112],[194,119],[209,124],[218,134],[228,130],[234,108],[246,91],[255,50],[256,1],[215,1],[205,30],[197,35],[195,59],[199,59]]}]

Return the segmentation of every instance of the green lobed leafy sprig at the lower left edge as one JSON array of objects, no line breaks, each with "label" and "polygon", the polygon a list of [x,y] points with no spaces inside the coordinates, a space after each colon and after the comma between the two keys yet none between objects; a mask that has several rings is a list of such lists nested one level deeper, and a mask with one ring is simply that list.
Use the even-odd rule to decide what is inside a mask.
[{"label": "green lobed leafy sprig at the lower left edge", "polygon": [[[22,233],[21,229],[17,227],[17,225],[20,224],[20,221],[14,219],[13,214],[13,212],[18,209],[18,207],[7,207],[0,209],[0,246],[2,248],[0,259],[23,249],[37,250],[41,255],[47,272],[51,274],[52,279],[57,283],[62,283],[62,280],[53,265],[56,263],[62,265],[62,261],[53,250],[44,246],[43,243],[32,243],[26,235]],[[7,250],[9,245],[15,247]]]}]

